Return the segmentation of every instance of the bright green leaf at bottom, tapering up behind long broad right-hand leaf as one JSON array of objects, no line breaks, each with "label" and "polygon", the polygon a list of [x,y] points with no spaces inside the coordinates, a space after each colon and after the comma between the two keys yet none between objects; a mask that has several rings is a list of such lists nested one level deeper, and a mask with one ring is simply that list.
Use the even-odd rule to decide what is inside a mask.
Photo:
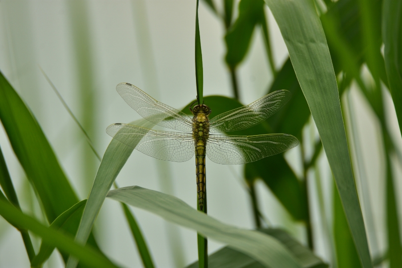
[{"label": "bright green leaf at bottom, tapering up behind long broad right-hand leaf", "polygon": [[336,187],[334,187],[334,238],[338,267],[360,268],[359,255],[353,243]]}]

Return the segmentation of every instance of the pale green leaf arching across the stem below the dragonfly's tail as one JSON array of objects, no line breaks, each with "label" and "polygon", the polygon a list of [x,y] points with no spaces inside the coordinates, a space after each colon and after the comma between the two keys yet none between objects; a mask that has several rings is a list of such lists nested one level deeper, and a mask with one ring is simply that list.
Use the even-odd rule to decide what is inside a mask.
[{"label": "pale green leaf arching across the stem below the dragonfly's tail", "polygon": [[109,198],[147,210],[158,216],[194,229],[208,238],[228,244],[271,268],[300,267],[278,240],[256,231],[221,223],[199,212],[180,199],[138,186],[112,190]]}]

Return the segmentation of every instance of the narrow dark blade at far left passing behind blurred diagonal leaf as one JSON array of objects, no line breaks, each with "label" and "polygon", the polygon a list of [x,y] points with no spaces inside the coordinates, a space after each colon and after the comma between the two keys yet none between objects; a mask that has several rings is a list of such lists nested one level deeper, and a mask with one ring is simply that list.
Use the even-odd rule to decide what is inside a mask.
[{"label": "narrow dark blade at far left passing behind blurred diagonal leaf", "polygon": [[[21,210],[20,203],[18,202],[17,198],[17,193],[16,190],[14,189],[13,181],[11,181],[10,173],[7,168],[6,160],[4,159],[2,148],[0,148],[0,186],[2,186],[2,189],[4,193],[6,194],[8,201],[10,201],[16,208]],[[1,191],[0,191],[1,193]],[[2,198],[4,200],[7,200],[5,196]],[[34,246],[32,245],[31,237],[29,236],[29,233],[27,230],[24,229],[19,229],[22,239],[24,241],[25,249],[27,250],[28,258],[32,262],[32,260],[35,257],[35,250]],[[31,263],[32,264],[32,263]],[[31,265],[35,266],[35,265]]]}]

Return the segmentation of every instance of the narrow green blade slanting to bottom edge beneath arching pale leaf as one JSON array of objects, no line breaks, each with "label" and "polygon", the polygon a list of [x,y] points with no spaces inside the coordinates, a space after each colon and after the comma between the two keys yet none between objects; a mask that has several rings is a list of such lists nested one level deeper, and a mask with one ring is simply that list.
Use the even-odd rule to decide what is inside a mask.
[{"label": "narrow green blade slanting to bottom edge beneath arching pale leaf", "polygon": [[124,215],[126,216],[127,222],[130,226],[131,233],[134,236],[138,251],[140,252],[142,263],[145,268],[153,268],[154,264],[151,255],[149,254],[147,243],[142,236],[140,227],[127,205],[124,203],[121,204],[124,210]]}]

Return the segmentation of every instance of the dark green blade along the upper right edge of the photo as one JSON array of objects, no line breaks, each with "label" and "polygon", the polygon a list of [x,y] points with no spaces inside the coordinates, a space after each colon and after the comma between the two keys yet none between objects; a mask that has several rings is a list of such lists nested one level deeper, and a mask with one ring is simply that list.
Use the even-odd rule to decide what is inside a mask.
[{"label": "dark green blade along the upper right edge of the photo", "polygon": [[382,40],[389,90],[402,135],[402,1],[384,0]]}]

